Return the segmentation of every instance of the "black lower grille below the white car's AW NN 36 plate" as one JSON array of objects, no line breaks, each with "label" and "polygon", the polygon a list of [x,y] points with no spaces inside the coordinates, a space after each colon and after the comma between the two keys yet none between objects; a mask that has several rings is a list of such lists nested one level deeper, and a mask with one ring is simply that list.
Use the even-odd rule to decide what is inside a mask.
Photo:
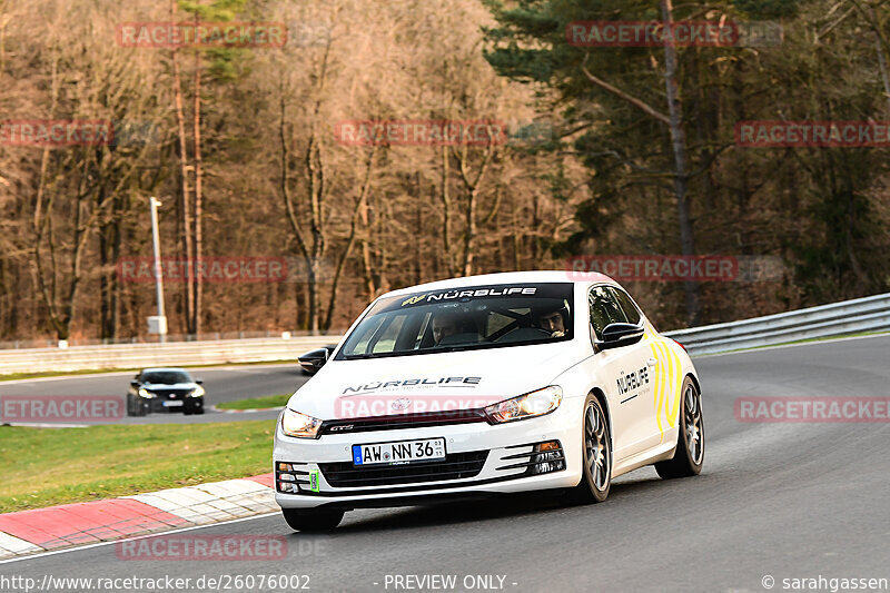
[{"label": "black lower grille below the white car's AW NN 36 plate", "polygon": [[487,451],[474,451],[451,453],[441,462],[366,467],[356,467],[352,462],[342,462],[319,463],[318,467],[327,483],[337,488],[389,486],[476,477],[487,457]]}]

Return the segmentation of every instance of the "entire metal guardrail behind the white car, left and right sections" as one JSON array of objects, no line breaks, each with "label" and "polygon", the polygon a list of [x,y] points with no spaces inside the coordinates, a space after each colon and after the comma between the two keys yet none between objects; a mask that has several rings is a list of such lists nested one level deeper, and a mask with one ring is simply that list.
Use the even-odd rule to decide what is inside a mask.
[{"label": "entire metal guardrail behind the white car, left and right sections", "polygon": [[[726,324],[665,332],[692,355],[714,354],[801,339],[890,330],[890,294]],[[342,336],[117,344],[0,350],[0,375],[148,366],[293,360]]]}]

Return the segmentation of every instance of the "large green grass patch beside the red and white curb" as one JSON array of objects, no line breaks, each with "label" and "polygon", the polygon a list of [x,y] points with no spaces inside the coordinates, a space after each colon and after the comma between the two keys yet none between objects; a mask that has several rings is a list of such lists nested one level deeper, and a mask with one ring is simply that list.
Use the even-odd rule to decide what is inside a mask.
[{"label": "large green grass patch beside the red and white curb", "polygon": [[275,421],[0,426],[0,513],[271,471]]}]

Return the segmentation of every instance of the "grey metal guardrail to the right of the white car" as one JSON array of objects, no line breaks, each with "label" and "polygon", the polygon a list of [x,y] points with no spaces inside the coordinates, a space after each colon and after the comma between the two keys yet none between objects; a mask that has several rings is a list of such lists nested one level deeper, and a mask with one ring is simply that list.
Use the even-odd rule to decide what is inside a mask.
[{"label": "grey metal guardrail to the right of the white car", "polygon": [[665,335],[683,344],[690,354],[700,355],[886,330],[890,330],[890,294]]}]

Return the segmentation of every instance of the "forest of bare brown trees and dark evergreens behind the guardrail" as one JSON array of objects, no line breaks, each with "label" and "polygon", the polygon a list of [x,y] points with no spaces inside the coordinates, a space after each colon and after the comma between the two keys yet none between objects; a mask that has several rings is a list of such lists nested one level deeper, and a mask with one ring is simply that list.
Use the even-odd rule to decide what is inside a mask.
[{"label": "forest of bare brown trees and dark evergreens behind the guardrail", "polygon": [[[334,332],[393,288],[575,255],[781,261],[760,281],[629,283],[664,328],[886,291],[887,145],[752,148],[735,129],[890,121],[889,19],[880,0],[0,0],[0,342],[146,335],[154,285],[120,270],[151,255],[152,196],[165,258],[287,267],[168,278],[171,334]],[[781,36],[567,40],[568,23],[614,20]],[[127,43],[121,27],[146,22],[287,36]],[[10,140],[47,121],[115,135]],[[344,138],[367,122],[503,129]]]}]

